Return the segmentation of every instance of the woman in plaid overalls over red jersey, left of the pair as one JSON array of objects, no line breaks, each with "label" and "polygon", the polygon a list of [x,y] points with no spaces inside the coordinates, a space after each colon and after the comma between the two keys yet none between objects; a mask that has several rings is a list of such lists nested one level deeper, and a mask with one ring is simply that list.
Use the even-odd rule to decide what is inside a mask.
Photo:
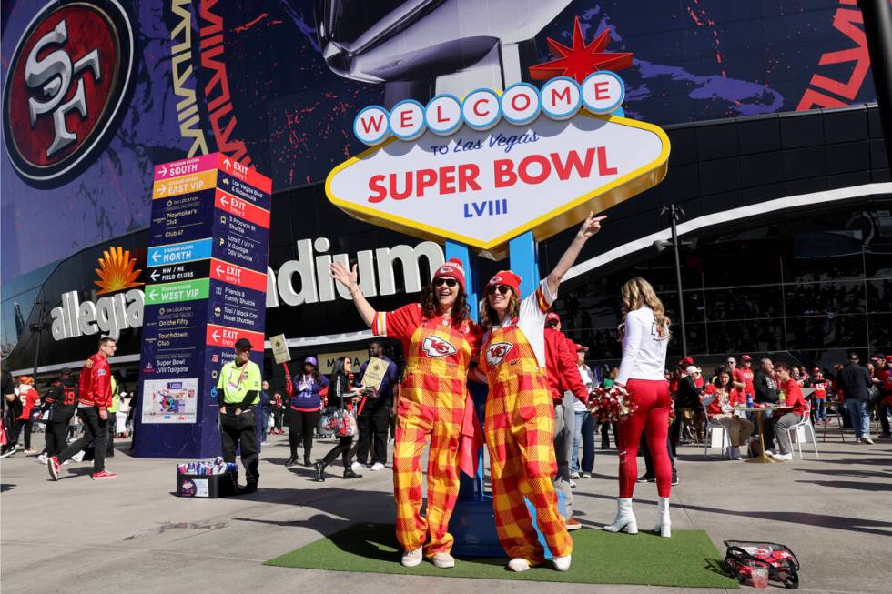
[{"label": "woman in plaid overalls over red jersey, left of the pair", "polygon": [[[393,495],[402,565],[428,558],[438,568],[454,567],[449,519],[459,495],[462,423],[468,418],[468,367],[480,343],[480,328],[468,317],[461,260],[451,259],[433,274],[421,303],[379,313],[357,284],[356,267],[331,265],[331,275],[350,289],[363,321],[375,336],[397,338],[406,354],[400,385]],[[428,505],[421,516],[421,454],[428,453]]]}]

